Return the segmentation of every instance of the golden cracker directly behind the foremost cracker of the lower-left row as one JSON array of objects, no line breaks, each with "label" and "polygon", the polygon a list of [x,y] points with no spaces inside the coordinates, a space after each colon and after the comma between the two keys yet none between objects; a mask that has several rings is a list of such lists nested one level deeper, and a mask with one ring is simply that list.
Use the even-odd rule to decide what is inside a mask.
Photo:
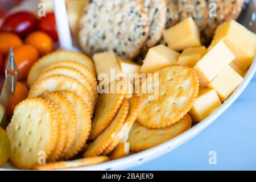
[{"label": "golden cracker directly behind the foremost cracker of the lower-left row", "polygon": [[51,103],[55,114],[57,116],[57,123],[59,127],[59,134],[58,134],[58,139],[55,144],[55,147],[53,148],[53,151],[51,155],[49,155],[49,158],[47,159],[48,162],[55,162],[58,160],[61,156],[61,153],[63,152],[63,148],[65,145],[65,142],[67,140],[67,132],[66,132],[66,125],[65,125],[65,120],[63,118],[63,114],[60,111],[60,107],[55,104],[55,102],[49,100]]}]

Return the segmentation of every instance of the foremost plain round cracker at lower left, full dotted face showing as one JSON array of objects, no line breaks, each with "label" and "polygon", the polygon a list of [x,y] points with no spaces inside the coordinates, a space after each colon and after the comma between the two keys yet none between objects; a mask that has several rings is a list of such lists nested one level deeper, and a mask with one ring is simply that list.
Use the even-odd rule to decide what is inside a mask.
[{"label": "foremost plain round cracker at lower left, full dotted face showing", "polygon": [[27,98],[14,110],[6,129],[11,144],[10,162],[22,169],[38,164],[39,155],[49,157],[58,137],[58,115],[42,98]]}]

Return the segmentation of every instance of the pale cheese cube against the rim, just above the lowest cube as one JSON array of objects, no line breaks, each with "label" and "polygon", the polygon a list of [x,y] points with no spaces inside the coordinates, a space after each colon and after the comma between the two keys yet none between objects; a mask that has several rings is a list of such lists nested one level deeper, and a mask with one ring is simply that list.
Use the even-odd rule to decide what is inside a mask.
[{"label": "pale cheese cube against the rim, just above the lowest cube", "polygon": [[242,81],[243,77],[228,65],[208,84],[208,87],[215,89],[221,102],[224,102]]}]

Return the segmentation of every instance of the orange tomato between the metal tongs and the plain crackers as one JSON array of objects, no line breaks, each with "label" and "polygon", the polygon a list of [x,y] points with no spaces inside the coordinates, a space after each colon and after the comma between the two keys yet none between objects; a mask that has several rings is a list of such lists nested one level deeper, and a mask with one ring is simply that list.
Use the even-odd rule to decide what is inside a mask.
[{"label": "orange tomato between the metal tongs and the plain crackers", "polygon": [[23,85],[21,82],[17,82],[14,95],[13,97],[10,97],[8,105],[6,107],[6,114],[8,117],[13,116],[13,110],[14,107],[19,104],[19,102],[23,101],[27,98],[28,90],[25,85]]}]

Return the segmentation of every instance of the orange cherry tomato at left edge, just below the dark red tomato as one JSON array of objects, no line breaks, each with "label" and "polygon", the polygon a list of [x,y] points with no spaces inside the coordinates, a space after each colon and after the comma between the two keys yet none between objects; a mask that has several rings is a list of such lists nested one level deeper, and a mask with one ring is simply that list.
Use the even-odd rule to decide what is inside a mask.
[{"label": "orange cherry tomato at left edge, just below the dark red tomato", "polygon": [[7,55],[10,47],[17,47],[22,45],[22,39],[17,35],[9,32],[0,33],[0,53]]}]

